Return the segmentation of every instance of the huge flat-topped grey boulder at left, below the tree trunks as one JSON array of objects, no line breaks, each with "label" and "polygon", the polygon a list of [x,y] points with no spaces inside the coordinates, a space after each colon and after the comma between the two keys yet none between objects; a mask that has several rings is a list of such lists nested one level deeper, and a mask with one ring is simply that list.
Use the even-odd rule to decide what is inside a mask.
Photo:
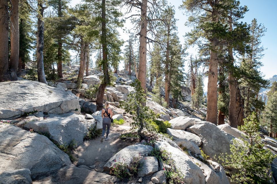
[{"label": "huge flat-topped grey boulder at left, below the tree trunks", "polygon": [[80,110],[78,97],[37,81],[2,82],[0,93],[0,119],[14,119],[32,111],[64,114]]}]

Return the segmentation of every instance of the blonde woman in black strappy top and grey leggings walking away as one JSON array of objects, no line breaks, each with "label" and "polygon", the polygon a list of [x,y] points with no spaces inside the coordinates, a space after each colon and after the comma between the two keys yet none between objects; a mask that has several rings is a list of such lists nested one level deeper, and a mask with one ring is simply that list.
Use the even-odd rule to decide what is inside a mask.
[{"label": "blonde woman in black strappy top and grey leggings walking away", "polygon": [[109,132],[110,132],[110,127],[111,127],[111,118],[113,117],[113,112],[112,110],[109,108],[109,102],[106,101],[105,102],[105,108],[102,109],[102,127],[103,127],[103,130],[102,130],[102,137],[101,137],[101,142],[103,142],[103,139],[104,139],[104,134],[105,134],[105,131],[106,131],[106,126],[108,127],[107,128],[107,133],[106,133],[106,139],[105,140],[108,140],[110,139],[108,137],[109,135]]}]

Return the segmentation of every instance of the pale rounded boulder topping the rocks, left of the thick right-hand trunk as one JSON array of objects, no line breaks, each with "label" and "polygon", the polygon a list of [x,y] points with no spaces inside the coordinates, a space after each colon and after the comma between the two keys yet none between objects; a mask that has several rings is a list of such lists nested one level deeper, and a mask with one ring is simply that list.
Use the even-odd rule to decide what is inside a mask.
[{"label": "pale rounded boulder topping the rocks, left of the thick right-hand trunk", "polygon": [[188,127],[191,127],[199,122],[203,121],[198,118],[189,118],[186,116],[179,116],[169,121],[169,123],[171,123],[171,129],[176,130],[186,130]]}]

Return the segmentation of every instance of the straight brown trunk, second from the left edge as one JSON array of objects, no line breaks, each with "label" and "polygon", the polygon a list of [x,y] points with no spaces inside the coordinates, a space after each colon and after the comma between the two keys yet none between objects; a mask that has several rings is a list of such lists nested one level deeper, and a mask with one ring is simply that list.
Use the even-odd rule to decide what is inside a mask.
[{"label": "straight brown trunk, second from the left edge", "polygon": [[11,0],[11,55],[10,75],[12,81],[17,81],[18,60],[19,60],[19,22],[18,22],[18,0]]}]

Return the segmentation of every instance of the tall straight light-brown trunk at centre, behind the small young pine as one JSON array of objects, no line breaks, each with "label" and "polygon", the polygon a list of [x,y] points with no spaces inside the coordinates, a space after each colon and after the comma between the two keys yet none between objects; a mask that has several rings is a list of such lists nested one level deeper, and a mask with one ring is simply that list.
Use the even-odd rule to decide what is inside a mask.
[{"label": "tall straight light-brown trunk at centre, behind the small young pine", "polygon": [[[141,30],[139,34],[139,72],[138,79],[146,94],[146,41],[147,41],[147,0],[141,2]],[[145,105],[145,104],[144,104]]]}]

